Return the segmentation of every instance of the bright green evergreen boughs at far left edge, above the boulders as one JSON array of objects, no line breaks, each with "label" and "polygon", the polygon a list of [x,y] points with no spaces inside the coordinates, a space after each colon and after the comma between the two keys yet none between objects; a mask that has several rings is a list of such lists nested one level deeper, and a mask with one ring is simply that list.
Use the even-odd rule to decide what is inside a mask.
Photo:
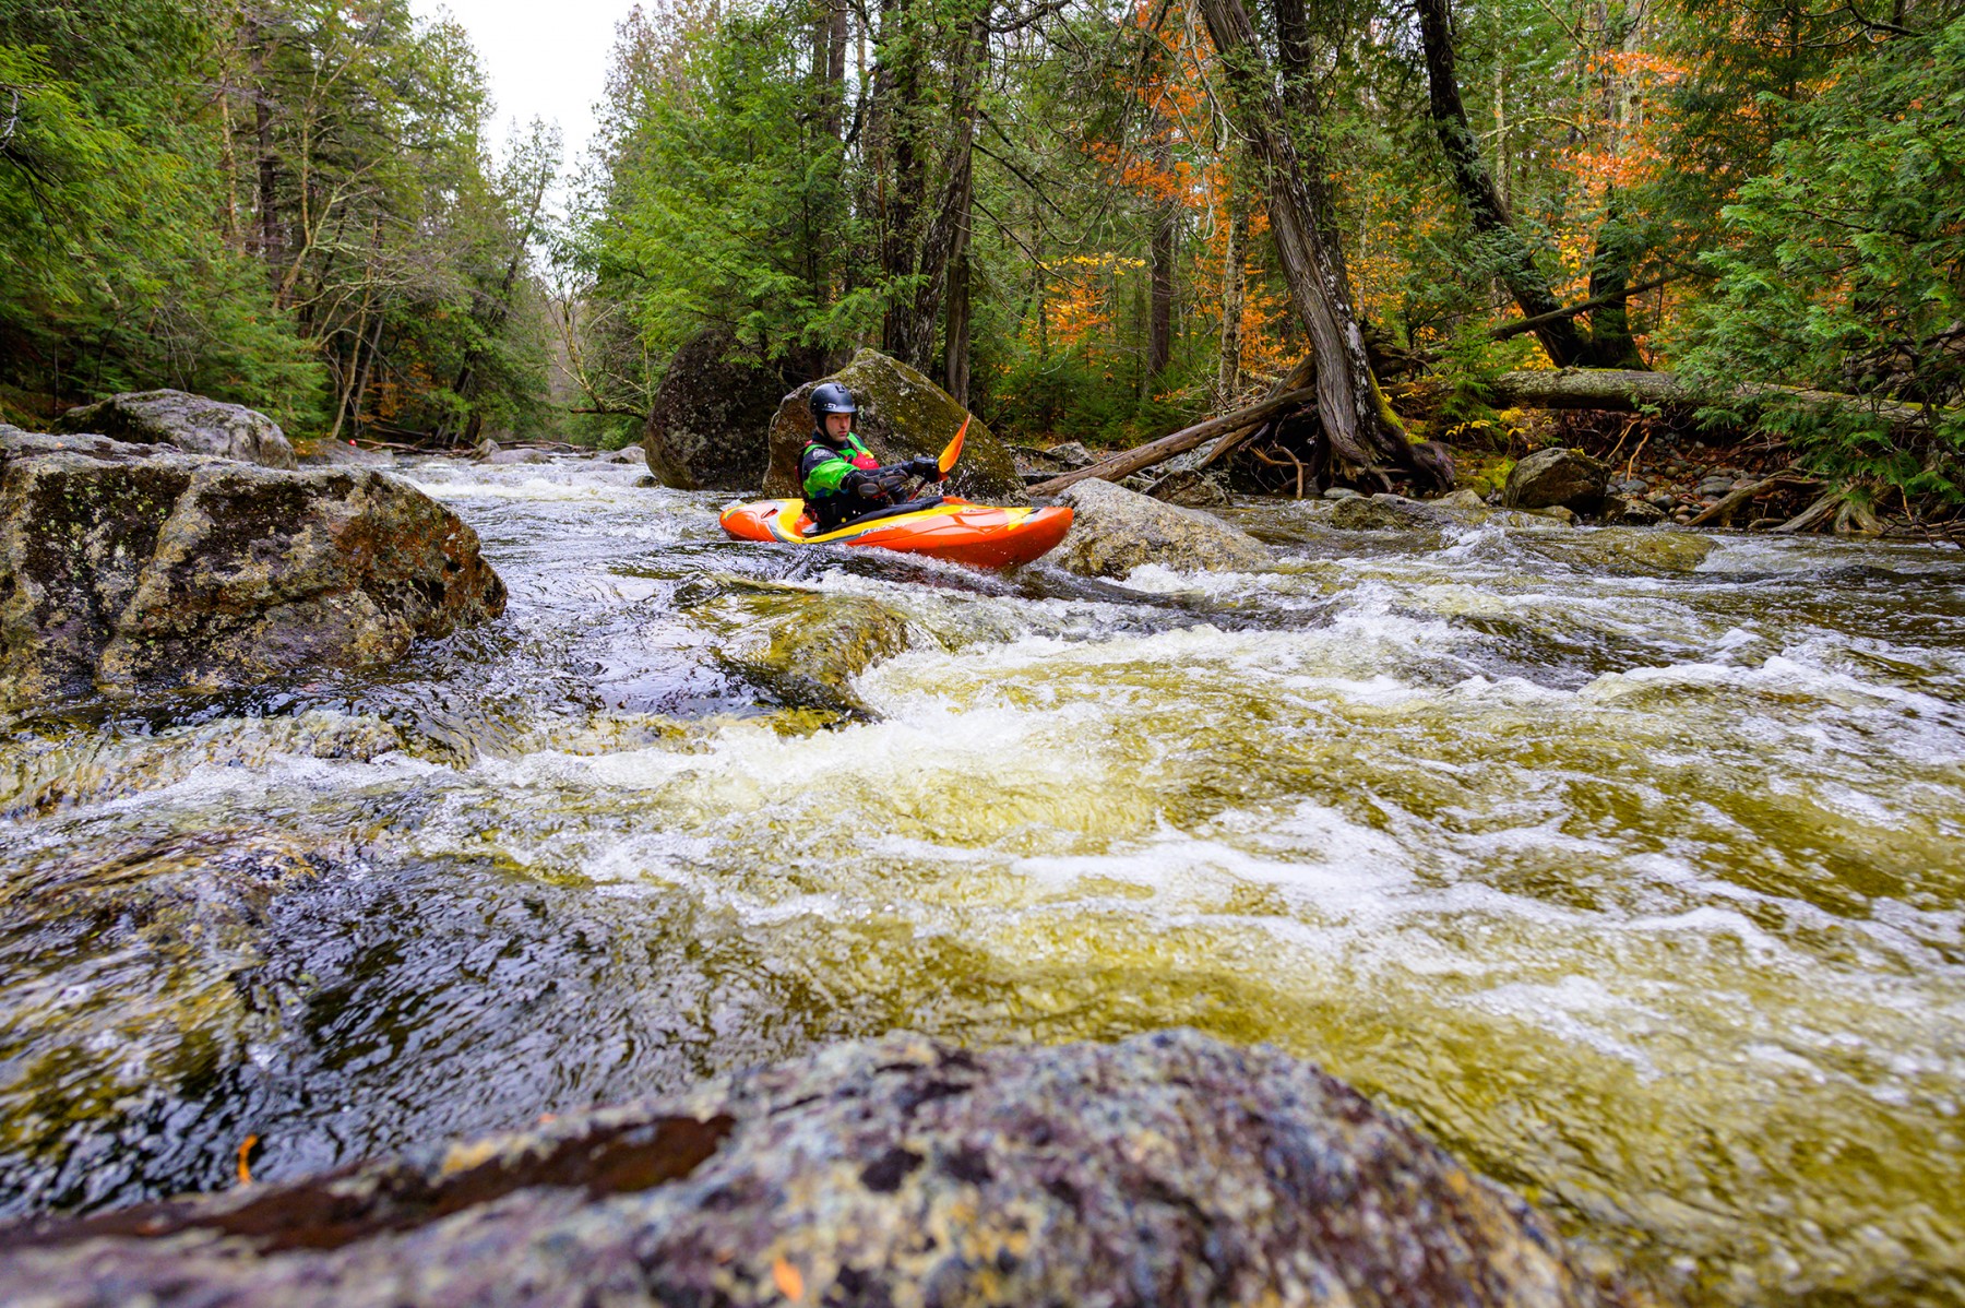
[{"label": "bright green evergreen boughs at far left edge, above the boulders", "polygon": [[212,226],[214,151],[177,90],[198,35],[163,4],[0,8],[0,381],[312,412],[318,363]]}]

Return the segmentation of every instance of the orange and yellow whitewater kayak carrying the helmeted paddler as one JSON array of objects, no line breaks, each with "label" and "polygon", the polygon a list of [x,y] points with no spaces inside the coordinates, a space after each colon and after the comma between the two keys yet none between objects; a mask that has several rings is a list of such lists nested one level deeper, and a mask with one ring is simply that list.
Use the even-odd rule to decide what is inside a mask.
[{"label": "orange and yellow whitewater kayak carrying the helmeted paddler", "polygon": [[806,501],[760,499],[731,505],[719,522],[737,540],[880,546],[971,568],[1016,568],[1065,538],[1071,530],[1071,509],[994,509],[947,497],[929,509],[847,522],[835,532],[808,536],[812,515],[806,513]]}]

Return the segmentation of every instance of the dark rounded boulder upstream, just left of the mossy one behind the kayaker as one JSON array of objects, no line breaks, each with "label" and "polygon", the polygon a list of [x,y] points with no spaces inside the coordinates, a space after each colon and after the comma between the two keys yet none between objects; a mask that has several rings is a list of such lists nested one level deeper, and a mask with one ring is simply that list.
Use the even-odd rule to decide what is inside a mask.
[{"label": "dark rounded boulder upstream, just left of the mossy one behind the kayaker", "polygon": [[686,340],[654,389],[641,448],[648,471],[678,491],[755,491],[770,462],[770,418],[792,381],[745,354],[723,328]]}]

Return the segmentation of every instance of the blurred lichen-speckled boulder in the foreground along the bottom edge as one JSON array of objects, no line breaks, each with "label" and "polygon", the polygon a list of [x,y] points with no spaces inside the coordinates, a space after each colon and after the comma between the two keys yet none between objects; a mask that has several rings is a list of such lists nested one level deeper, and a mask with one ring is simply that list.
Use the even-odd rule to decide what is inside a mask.
[{"label": "blurred lichen-speckled boulder in the foreground along the bottom edge", "polygon": [[1639,1302],[1356,1090],[1195,1031],[892,1035],[0,1241],[0,1300],[41,1308]]}]

